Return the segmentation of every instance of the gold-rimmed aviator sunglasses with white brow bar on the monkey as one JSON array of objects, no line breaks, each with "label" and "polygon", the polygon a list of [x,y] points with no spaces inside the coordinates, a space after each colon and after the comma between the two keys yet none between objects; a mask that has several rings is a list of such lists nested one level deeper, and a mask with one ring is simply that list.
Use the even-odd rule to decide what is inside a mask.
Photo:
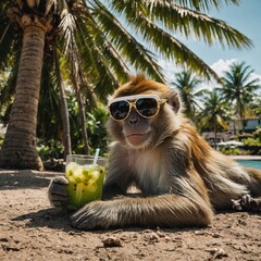
[{"label": "gold-rimmed aviator sunglasses with white brow bar on the monkey", "polygon": [[142,117],[150,119],[158,114],[160,104],[166,102],[158,95],[137,95],[115,98],[109,101],[109,111],[113,120],[124,121],[132,108]]}]

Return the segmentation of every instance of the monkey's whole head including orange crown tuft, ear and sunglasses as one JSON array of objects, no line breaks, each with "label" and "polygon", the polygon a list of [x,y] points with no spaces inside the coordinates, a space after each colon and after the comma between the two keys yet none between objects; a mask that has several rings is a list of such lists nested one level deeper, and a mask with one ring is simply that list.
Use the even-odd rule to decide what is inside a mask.
[{"label": "monkey's whole head including orange crown tuft, ear and sunglasses", "polygon": [[115,91],[109,110],[109,135],[130,149],[154,148],[181,124],[176,91],[140,75]]}]

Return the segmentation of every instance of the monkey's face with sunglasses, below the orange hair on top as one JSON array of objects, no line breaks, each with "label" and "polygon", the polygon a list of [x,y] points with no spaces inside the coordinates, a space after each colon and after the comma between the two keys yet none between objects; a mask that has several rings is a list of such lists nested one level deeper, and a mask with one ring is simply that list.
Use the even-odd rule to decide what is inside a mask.
[{"label": "monkey's face with sunglasses, below the orange hair on top", "polygon": [[158,95],[135,95],[112,99],[108,129],[111,137],[130,149],[150,149],[177,127],[176,114]]}]

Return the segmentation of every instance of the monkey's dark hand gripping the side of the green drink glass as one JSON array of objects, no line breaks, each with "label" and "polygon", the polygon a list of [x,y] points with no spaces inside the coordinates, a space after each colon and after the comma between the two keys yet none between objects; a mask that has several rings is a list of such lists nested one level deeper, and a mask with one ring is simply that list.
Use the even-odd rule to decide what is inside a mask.
[{"label": "monkey's dark hand gripping the side of the green drink glass", "polygon": [[55,177],[51,181],[51,184],[48,189],[49,200],[54,207],[66,207],[69,204],[69,192],[66,185],[69,181],[63,177]]}]

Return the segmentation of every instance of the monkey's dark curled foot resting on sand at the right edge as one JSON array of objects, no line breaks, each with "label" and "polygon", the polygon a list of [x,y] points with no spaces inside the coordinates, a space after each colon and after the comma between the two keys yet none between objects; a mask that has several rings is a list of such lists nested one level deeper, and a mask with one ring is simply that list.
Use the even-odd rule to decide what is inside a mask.
[{"label": "monkey's dark curled foot resting on sand at the right edge", "polygon": [[240,199],[232,200],[232,206],[237,211],[261,211],[261,198],[244,195]]}]

